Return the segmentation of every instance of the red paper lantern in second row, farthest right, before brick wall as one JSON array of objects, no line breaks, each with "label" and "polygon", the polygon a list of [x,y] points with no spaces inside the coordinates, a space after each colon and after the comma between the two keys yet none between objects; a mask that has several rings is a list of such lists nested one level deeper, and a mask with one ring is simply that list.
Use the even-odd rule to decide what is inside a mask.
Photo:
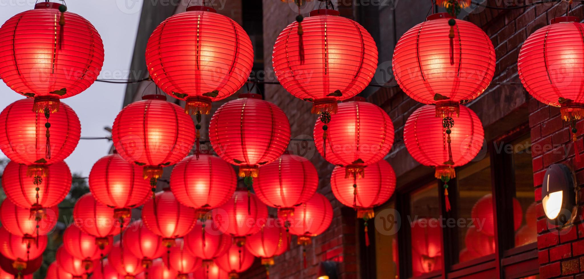
[{"label": "red paper lantern in second row, farthest right, before brick wall", "polygon": [[442,119],[434,116],[432,105],[418,108],[404,126],[404,143],[409,154],[420,164],[435,167],[436,178],[456,177],[454,168],[474,159],[485,139],[481,120],[465,106],[460,107],[460,116],[450,128],[450,144],[446,130]]}]

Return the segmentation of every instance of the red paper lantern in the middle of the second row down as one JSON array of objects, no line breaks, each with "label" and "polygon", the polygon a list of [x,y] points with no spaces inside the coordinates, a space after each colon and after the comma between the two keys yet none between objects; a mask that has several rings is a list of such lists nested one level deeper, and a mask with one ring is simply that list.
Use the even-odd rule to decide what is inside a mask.
[{"label": "red paper lantern in the middle of the second row down", "polygon": [[215,111],[209,139],[217,155],[239,165],[239,176],[258,176],[258,167],[284,153],[290,142],[290,122],[276,105],[258,94],[240,94]]}]

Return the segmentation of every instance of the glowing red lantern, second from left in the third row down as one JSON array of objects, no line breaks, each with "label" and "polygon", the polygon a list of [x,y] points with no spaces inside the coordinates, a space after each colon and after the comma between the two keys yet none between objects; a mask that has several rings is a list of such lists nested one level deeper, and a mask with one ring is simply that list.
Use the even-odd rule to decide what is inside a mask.
[{"label": "glowing red lantern, second from left in the third row down", "polygon": [[99,203],[113,207],[114,217],[130,218],[131,209],[148,199],[151,186],[142,177],[142,168],[118,154],[99,159],[89,172],[89,190]]}]

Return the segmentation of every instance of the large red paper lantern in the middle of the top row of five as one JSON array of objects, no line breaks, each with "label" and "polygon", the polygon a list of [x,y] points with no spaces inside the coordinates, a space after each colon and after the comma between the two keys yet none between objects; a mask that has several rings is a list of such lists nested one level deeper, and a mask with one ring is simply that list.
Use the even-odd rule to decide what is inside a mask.
[{"label": "large red paper lantern in the middle of the top row of five", "polygon": [[280,33],[272,61],[284,89],[312,102],[313,114],[334,113],[337,101],[361,93],[371,82],[377,45],[359,23],[337,10],[319,9]]}]

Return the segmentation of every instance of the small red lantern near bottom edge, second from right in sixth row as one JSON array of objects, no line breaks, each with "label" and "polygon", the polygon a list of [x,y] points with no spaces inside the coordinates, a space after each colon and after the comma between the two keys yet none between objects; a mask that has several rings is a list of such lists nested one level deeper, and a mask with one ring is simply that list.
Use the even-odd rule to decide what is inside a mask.
[{"label": "small red lantern near bottom edge, second from right in sixth row", "polygon": [[178,275],[176,278],[188,278],[188,274],[201,267],[201,259],[189,253],[185,247],[183,239],[176,239],[175,246],[169,249],[170,253],[162,257],[162,260],[169,269],[175,270]]}]

